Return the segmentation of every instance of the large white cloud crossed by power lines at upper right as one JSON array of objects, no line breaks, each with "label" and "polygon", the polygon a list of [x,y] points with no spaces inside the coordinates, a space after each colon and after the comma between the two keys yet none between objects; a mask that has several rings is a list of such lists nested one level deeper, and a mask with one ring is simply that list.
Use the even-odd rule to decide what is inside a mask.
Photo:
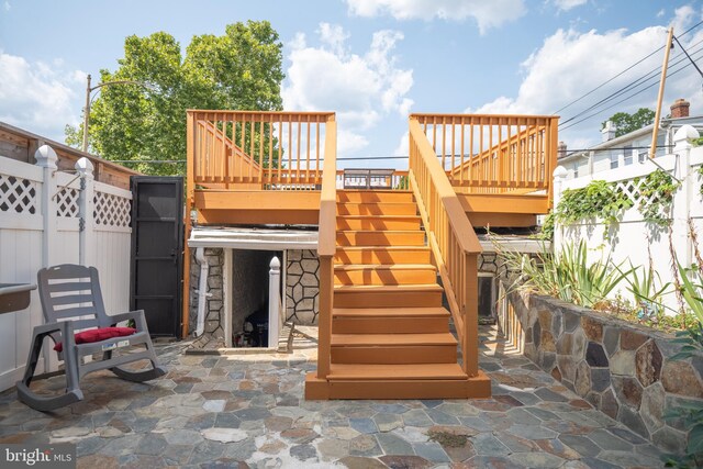
[{"label": "large white cloud crossed by power lines at upper right", "polygon": [[[690,18],[695,14],[698,13],[679,11],[674,21],[690,21]],[[632,33],[626,30],[605,33],[599,33],[595,30],[585,33],[574,30],[558,30],[547,37],[542,47],[522,64],[524,78],[516,97],[499,97],[478,109],[467,109],[466,112],[551,114],[620,74],[627,66],[657,51],[665,45],[666,38],[667,30],[665,26],[650,26]],[[682,41],[685,40],[683,45],[690,48],[701,38],[703,38],[703,31],[698,34],[689,34]],[[633,112],[641,107],[654,109],[662,54],[662,51],[659,51],[598,91],[560,111],[560,122],[563,123],[565,120],[582,113],[590,105],[637,78],[652,72],[651,79],[647,81],[647,86],[652,85],[649,89],[618,104],[616,101],[628,94],[613,100],[607,104],[615,104],[611,109],[605,109],[571,129],[561,129],[559,138],[565,139],[571,148],[598,143],[600,141],[600,123],[610,115],[618,111]],[[670,71],[684,65],[683,62],[678,66],[673,65],[679,54],[681,54],[680,51],[672,51]],[[641,88],[637,88],[637,90]],[[677,98],[688,99],[691,101],[691,112],[703,114],[700,76],[693,67],[688,67],[667,80],[667,93],[662,104],[665,115],[669,111],[670,102]],[[581,118],[585,118],[592,112],[585,112],[581,114]],[[567,125],[565,124],[563,127]]]}]

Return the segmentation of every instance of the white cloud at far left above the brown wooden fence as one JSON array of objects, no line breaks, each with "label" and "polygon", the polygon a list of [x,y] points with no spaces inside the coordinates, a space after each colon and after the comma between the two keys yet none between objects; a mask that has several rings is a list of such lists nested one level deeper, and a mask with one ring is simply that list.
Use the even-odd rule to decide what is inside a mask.
[{"label": "white cloud at far left above the brown wooden fence", "polygon": [[59,142],[64,126],[78,123],[72,88],[85,72],[66,70],[60,60],[30,63],[0,51],[0,121]]}]

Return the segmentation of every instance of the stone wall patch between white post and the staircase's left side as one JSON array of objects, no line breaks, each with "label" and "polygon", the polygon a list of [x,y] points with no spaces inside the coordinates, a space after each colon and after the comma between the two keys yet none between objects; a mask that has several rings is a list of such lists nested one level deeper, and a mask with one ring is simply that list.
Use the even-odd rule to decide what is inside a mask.
[{"label": "stone wall patch between white post and the staircase's left side", "polygon": [[286,266],[286,321],[317,324],[320,313],[320,259],[317,252],[289,249]]}]

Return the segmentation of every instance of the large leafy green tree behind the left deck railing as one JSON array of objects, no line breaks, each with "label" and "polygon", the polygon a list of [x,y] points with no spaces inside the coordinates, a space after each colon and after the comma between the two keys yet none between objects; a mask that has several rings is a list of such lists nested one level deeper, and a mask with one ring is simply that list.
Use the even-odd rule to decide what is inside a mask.
[{"label": "large leafy green tree behind the left deck railing", "polygon": [[[282,44],[267,21],[227,25],[225,34],[193,36],[181,55],[168,33],[129,36],[124,58],[102,82],[140,85],[102,88],[90,112],[89,145],[105,159],[186,158],[186,110],[280,110]],[[232,133],[230,129],[228,134]],[[66,143],[79,146],[81,127],[66,126]],[[130,164],[154,175],[183,174],[183,164]]]}]

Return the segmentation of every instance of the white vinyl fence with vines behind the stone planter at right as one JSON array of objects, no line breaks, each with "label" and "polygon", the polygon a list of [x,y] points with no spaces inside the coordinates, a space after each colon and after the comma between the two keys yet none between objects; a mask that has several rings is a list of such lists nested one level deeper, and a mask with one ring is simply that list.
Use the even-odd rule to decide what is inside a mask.
[{"label": "white vinyl fence with vines behind the stone planter at right", "polygon": [[[690,234],[692,222],[699,241],[703,243],[703,198],[701,196],[701,177],[699,168],[703,164],[703,147],[694,147],[692,141],[699,133],[690,125],[684,125],[674,135],[676,147],[673,154],[657,157],[654,161],[616,168],[610,171],[601,171],[582,178],[566,180],[566,170],[558,167],[555,170],[555,206],[559,203],[561,193],[567,189],[579,189],[589,185],[592,180],[605,180],[614,182],[633,202],[634,205],[626,210],[622,217],[613,223],[610,233],[604,236],[605,225],[602,220],[584,220],[571,225],[555,226],[554,249],[559,253],[566,243],[578,244],[585,241],[589,247],[589,260],[605,259],[611,256],[615,264],[624,263],[623,267],[644,266],[649,263],[659,275],[661,282],[672,282],[672,255],[683,266],[690,266],[695,261],[693,243]],[[644,220],[638,205],[645,196],[639,191],[644,178],[657,169],[669,172],[681,185],[673,194],[670,211],[666,213],[666,220],[671,222],[671,245],[669,242],[669,228],[659,227]],[[650,196],[656,198],[657,196]],[[645,200],[644,203],[650,203]],[[703,248],[703,245],[701,246]],[[638,272],[641,278],[641,270]],[[627,291],[626,282],[620,284],[620,293],[624,298],[633,300]],[[665,298],[665,304],[677,308],[676,297],[671,293]]]}]

